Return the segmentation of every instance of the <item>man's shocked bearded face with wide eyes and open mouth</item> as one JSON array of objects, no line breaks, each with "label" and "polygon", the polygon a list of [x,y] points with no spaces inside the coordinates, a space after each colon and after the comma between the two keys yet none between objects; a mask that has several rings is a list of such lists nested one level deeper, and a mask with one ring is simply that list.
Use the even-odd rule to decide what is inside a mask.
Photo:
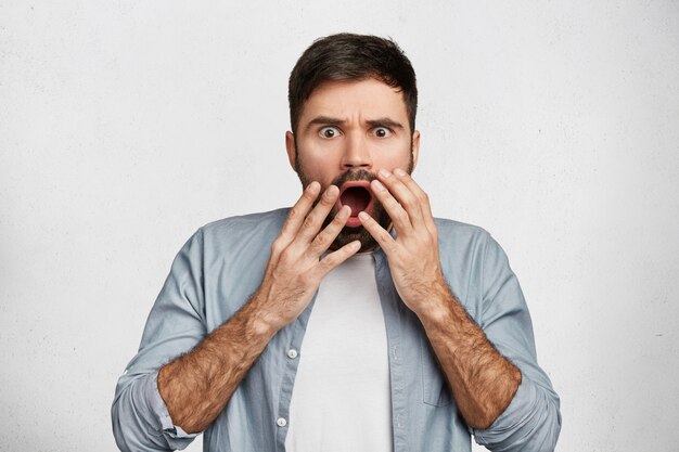
[{"label": "man's shocked bearded face with wide eyes and open mouth", "polygon": [[420,132],[410,130],[400,91],[376,79],[326,81],[304,104],[297,132],[287,132],[285,144],[303,188],[311,181],[323,189],[340,188],[340,201],[326,223],[343,205],[351,207],[351,217],[332,248],[355,240],[361,241],[362,250],[374,248],[359,211],[370,214],[384,229],[392,221],[369,182],[381,168],[411,172],[420,145]]}]

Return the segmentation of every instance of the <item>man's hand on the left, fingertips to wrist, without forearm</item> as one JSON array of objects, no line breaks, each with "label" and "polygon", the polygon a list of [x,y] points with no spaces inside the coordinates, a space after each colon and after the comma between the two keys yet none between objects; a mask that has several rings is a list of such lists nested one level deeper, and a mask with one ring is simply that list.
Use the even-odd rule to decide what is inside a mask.
[{"label": "man's hand on the left, fingertips to wrist, without forearm", "polygon": [[318,182],[308,184],[290,211],[271,246],[261,285],[252,299],[261,313],[260,319],[273,331],[294,321],[309,305],[321,280],[360,249],[360,242],[355,241],[320,259],[351,214],[348,206],[342,207],[321,231],[340,190],[330,185],[313,206],[320,189]]}]

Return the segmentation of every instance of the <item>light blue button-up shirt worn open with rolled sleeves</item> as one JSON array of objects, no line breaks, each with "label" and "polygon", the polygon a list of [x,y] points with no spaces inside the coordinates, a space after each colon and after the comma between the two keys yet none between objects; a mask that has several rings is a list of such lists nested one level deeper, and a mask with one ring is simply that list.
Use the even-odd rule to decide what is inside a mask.
[{"label": "light blue button-up shirt worn open with rolled sleeves", "polygon": [[[141,346],[118,380],[113,431],[123,451],[185,448],[157,389],[158,370],[190,351],[257,289],[289,209],[220,220],[182,247],[151,310]],[[481,228],[436,219],[451,290],[500,353],[522,372],[507,410],[486,430],[466,426],[417,315],[399,298],[386,256],[372,255],[388,346],[395,452],[552,451],[559,397],[538,366],[530,315],[507,256]],[[221,414],[204,431],[210,452],[283,452],[297,364],[313,300],[268,344]],[[290,352],[298,350],[298,353]],[[332,352],[332,350],[329,350]],[[354,435],[347,431],[347,435]]]}]

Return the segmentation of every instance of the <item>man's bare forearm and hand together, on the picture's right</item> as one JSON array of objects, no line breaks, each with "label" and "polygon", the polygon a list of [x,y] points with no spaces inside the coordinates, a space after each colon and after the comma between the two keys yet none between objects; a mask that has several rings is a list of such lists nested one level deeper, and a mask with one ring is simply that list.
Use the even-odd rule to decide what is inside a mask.
[{"label": "man's bare forearm and hand together, on the picture's right", "polygon": [[401,299],[422,322],[462,416],[471,427],[488,428],[514,397],[521,371],[495,349],[448,288],[427,195],[400,169],[380,170],[371,186],[397,238],[368,214],[359,218],[386,254]]}]

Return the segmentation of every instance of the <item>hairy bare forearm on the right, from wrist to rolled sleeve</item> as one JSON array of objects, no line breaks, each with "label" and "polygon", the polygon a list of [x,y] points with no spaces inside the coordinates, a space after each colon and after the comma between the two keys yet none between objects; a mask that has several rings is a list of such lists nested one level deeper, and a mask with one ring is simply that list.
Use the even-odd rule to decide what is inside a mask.
[{"label": "hairy bare forearm on the right, from wrist to rolled sleeve", "polygon": [[498,352],[445,283],[435,292],[434,307],[420,320],[460,413],[471,427],[488,428],[512,401],[521,371]]}]

